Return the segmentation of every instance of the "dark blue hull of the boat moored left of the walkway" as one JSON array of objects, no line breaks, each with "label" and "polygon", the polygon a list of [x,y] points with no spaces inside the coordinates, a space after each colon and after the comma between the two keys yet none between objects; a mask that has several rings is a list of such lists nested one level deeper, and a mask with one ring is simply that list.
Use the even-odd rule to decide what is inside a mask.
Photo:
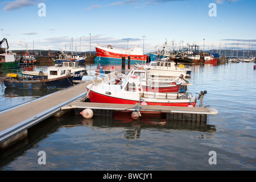
[{"label": "dark blue hull of the boat moored left of the walkway", "polygon": [[7,88],[17,89],[62,89],[72,86],[73,75],[63,76],[60,78],[46,79],[46,80],[31,80],[24,78],[24,80],[11,79],[9,77],[3,78],[3,82]]}]

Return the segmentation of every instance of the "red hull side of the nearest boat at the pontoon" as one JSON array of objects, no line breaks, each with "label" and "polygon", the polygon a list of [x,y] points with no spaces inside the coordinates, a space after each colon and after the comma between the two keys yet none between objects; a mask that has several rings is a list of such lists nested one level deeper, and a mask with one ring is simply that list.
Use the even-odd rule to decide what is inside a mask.
[{"label": "red hull side of the nearest boat at the pontoon", "polygon": [[[138,101],[134,100],[125,100],[122,98],[116,98],[116,97],[109,97],[104,96],[103,94],[99,94],[96,92],[93,92],[90,90],[89,92],[89,98],[90,102],[97,102],[97,103],[109,103],[109,104],[137,104]],[[181,106],[181,107],[187,107],[189,105],[189,102],[180,103],[180,102],[146,102],[147,105],[161,105],[161,106]],[[196,102],[191,103],[194,107],[196,105]]]}]

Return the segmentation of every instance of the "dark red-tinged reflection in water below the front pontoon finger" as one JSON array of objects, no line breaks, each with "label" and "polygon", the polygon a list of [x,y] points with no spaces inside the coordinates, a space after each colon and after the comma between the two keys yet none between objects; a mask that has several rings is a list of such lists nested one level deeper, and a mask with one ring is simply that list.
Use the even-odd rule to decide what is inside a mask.
[{"label": "dark red-tinged reflection in water below the front pontoon finger", "polygon": [[85,119],[80,115],[75,116],[76,120],[80,120],[81,124],[86,127],[92,127],[93,129],[106,128],[106,127],[123,127],[125,134],[123,135],[127,139],[136,139],[141,135],[142,129],[157,129],[157,130],[189,130],[189,131],[203,131],[214,133],[216,127],[214,125],[208,125],[208,122],[200,121],[166,121],[166,115],[146,115],[134,120],[131,118],[129,112],[115,112],[113,117],[93,116],[93,118]]}]

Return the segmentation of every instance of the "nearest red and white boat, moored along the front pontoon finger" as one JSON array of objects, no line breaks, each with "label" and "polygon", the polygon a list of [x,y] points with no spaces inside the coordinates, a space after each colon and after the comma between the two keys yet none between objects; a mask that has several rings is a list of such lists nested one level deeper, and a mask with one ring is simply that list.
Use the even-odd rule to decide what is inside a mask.
[{"label": "nearest red and white boat, moored along the front pontoon finger", "polygon": [[138,80],[124,78],[121,85],[100,83],[87,86],[90,102],[110,103],[110,104],[137,104],[146,102],[147,105],[162,106],[195,106],[196,98],[186,93],[159,93],[146,92]]}]

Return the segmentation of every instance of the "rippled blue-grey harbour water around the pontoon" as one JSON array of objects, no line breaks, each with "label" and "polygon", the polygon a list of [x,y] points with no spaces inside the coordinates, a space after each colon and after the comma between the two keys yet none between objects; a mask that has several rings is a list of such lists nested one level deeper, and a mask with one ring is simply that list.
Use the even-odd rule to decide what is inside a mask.
[{"label": "rippled blue-grey harbour water around the pontoon", "polygon": [[[48,118],[28,138],[0,153],[0,170],[255,170],[255,63],[192,65],[188,92],[207,90],[204,106],[218,110],[207,125],[167,123],[162,117],[114,118],[67,114]],[[48,93],[10,91],[0,84],[0,110]],[[1,118],[0,118],[1,119]],[[39,164],[39,152],[46,164]],[[214,162],[212,151],[215,152]]]}]

